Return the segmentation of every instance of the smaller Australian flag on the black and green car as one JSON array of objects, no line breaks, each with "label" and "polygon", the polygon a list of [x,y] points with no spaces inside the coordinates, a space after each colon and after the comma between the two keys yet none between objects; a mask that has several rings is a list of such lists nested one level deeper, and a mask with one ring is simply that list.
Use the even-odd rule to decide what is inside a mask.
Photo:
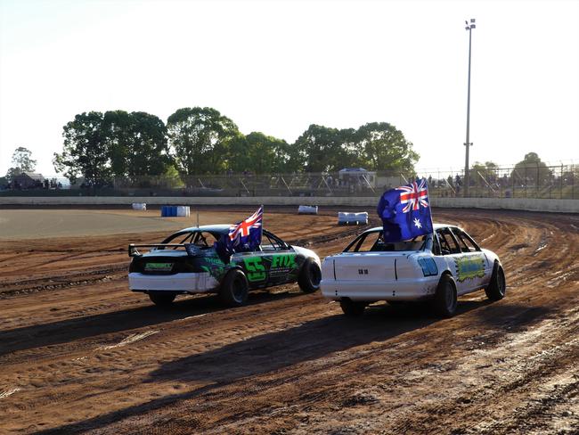
[{"label": "smaller Australian flag on the black and green car", "polygon": [[[229,234],[224,234],[215,248],[220,259],[229,263],[229,259],[235,252],[248,252],[259,250],[261,244],[261,223],[264,217],[264,206],[239,224],[229,227]],[[225,261],[226,260],[226,261]]]}]

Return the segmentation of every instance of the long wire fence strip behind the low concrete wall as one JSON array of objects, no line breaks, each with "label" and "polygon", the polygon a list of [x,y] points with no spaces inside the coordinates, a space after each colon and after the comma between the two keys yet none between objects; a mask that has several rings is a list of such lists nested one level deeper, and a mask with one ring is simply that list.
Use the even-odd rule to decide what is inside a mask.
[{"label": "long wire fence strip behind the low concrete wall", "polygon": [[[13,196],[377,196],[416,176],[428,179],[432,197],[463,196],[464,173],[453,169],[367,171],[348,168],[336,173],[224,174],[183,177],[140,176],[88,185],[82,179],[64,188],[4,189]],[[469,197],[579,199],[579,165],[524,168],[473,168]]]}]

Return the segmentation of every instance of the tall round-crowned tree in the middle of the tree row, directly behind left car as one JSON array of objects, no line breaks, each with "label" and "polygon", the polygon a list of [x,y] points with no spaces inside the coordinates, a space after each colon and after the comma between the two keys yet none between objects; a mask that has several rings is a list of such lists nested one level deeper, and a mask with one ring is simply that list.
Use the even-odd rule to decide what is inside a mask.
[{"label": "tall round-crowned tree in the middle of the tree row, directly behind left car", "polygon": [[209,107],[175,111],[167,119],[167,133],[176,166],[186,176],[224,170],[229,144],[240,135],[231,119]]}]

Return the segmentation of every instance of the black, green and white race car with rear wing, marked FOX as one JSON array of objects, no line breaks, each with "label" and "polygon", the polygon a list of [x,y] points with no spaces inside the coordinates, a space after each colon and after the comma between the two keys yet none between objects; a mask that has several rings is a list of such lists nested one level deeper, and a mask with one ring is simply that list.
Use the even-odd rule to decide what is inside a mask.
[{"label": "black, green and white race car with rear wing, marked FOX", "polygon": [[[177,294],[217,293],[229,306],[241,306],[248,292],[298,282],[309,293],[320,288],[320,259],[313,250],[291,246],[263,230],[259,250],[235,253],[229,263],[217,255],[214,242],[229,225],[194,226],[161,243],[130,244],[128,283],[156,305],[169,305]],[[139,248],[151,248],[141,253]]]}]

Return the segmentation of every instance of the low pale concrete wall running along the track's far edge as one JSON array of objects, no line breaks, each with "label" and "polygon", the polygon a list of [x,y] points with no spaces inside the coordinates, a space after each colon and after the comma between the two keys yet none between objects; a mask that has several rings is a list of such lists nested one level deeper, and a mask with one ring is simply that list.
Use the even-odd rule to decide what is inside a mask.
[{"label": "low pale concrete wall running along the track's far edge", "polygon": [[[532,198],[432,198],[433,207],[460,209],[519,209],[579,213],[579,200],[537,200]],[[145,202],[149,205],[318,205],[341,207],[376,207],[378,197],[130,197],[130,196],[61,196],[0,197],[6,205],[123,205]]]}]

